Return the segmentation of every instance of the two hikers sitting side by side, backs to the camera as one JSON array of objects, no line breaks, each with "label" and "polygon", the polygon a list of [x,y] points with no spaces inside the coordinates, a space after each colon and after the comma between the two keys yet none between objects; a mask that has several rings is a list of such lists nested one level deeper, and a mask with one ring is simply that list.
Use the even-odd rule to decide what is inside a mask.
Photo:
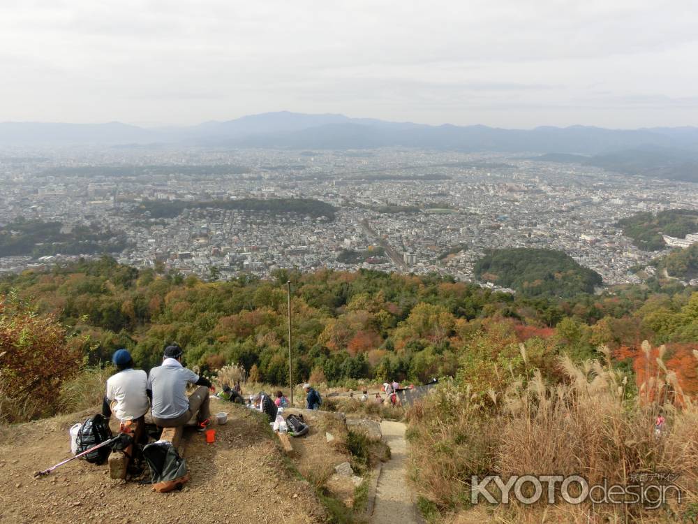
[{"label": "two hikers sitting side by side, backs to the camera", "polygon": [[[163,363],[147,374],[133,367],[128,350],[115,351],[112,363],[117,367],[117,373],[107,379],[103,416],[109,419],[113,413],[121,421],[137,421],[151,409],[154,423],[161,428],[185,425],[196,416],[199,430],[205,430],[211,416],[211,382],[181,365],[181,358],[179,346],[168,346]],[[188,384],[195,384],[198,388],[187,396]]]}]

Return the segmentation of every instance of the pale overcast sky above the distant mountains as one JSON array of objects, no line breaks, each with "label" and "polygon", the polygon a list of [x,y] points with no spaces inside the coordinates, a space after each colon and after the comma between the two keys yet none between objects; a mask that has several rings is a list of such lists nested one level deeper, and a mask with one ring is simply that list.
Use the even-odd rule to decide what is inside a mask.
[{"label": "pale overcast sky above the distant mountains", "polygon": [[695,0],[0,0],[0,121],[698,125]]}]

